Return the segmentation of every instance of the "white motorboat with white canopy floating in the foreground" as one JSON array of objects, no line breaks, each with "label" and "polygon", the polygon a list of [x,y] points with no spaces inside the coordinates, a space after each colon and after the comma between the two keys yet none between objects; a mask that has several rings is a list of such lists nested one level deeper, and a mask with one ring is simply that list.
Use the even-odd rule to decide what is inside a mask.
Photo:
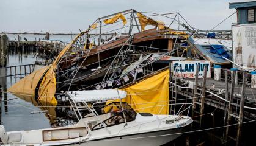
[{"label": "white motorboat with white canopy floating in the foreground", "polygon": [[[112,108],[111,112],[98,114],[95,110],[96,104],[106,100],[121,101],[126,97],[125,91],[117,89],[73,91],[66,94],[73,102],[72,107],[79,118],[78,123],[65,127],[11,132],[5,132],[4,126],[0,125],[2,144],[163,145],[180,136],[192,123],[191,117],[179,114],[136,113],[129,105],[122,102],[113,102],[104,107],[104,109]],[[89,105],[91,102],[94,103]],[[80,111],[85,109],[91,113],[82,117]]]}]

